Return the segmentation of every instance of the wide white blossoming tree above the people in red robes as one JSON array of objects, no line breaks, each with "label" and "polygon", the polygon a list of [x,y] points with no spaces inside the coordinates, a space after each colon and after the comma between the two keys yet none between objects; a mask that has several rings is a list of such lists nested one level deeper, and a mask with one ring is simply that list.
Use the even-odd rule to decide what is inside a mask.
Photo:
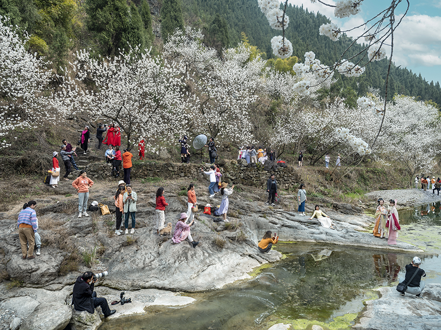
[{"label": "wide white blossoming tree above the people in red robes", "polygon": [[[146,149],[157,152],[186,131],[191,112],[181,62],[138,49],[115,58],[84,50],[66,71],[61,91],[53,95],[54,108],[87,111],[94,120],[118,124],[128,146],[144,139]],[[89,89],[82,88],[86,81]]]}]

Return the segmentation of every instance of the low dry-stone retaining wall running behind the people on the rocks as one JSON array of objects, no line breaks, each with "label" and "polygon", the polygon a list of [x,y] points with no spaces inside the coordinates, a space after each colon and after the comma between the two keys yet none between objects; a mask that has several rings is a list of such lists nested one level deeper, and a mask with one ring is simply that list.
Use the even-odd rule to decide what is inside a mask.
[{"label": "low dry-stone retaining wall running behind the people on the rocks", "polygon": [[[298,187],[300,176],[292,166],[280,167],[268,163],[245,165],[244,160],[227,161],[221,166],[221,173],[226,182],[241,183],[247,186],[264,187],[271,173],[274,173],[278,187],[290,189]],[[205,167],[205,166],[204,166]],[[155,161],[137,162],[131,171],[132,178],[161,177],[167,179],[189,177],[195,178],[200,173],[200,164],[179,164]],[[94,163],[87,167],[87,175],[92,179],[111,179],[112,167],[106,163]],[[123,177],[121,168],[120,177]]]}]

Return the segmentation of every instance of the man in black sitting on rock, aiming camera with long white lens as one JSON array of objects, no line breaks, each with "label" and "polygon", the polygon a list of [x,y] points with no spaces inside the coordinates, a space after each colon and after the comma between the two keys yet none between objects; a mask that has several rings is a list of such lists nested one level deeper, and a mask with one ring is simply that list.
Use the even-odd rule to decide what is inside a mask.
[{"label": "man in black sitting on rock, aiming camera with long white lens", "polygon": [[97,292],[94,292],[94,273],[85,272],[76,279],[73,285],[72,303],[73,307],[78,310],[87,310],[93,314],[97,306],[101,306],[104,317],[115,314],[116,309],[110,310],[106,298],[97,298]]}]

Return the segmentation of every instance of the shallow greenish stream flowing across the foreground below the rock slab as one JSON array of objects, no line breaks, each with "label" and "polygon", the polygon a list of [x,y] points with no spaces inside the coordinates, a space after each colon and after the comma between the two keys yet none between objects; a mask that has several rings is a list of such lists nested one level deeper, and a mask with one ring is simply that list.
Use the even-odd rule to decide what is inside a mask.
[{"label": "shallow greenish stream flowing across the foreground below the rock slab", "polygon": [[[363,300],[376,297],[369,289],[392,285],[414,256],[316,243],[276,247],[285,258],[252,279],[189,294],[197,301],[187,307],[151,307],[145,315],[107,321],[99,330],[268,329],[283,321],[295,329],[311,323],[347,329]],[[441,283],[441,257],[421,259],[426,283]]]}]

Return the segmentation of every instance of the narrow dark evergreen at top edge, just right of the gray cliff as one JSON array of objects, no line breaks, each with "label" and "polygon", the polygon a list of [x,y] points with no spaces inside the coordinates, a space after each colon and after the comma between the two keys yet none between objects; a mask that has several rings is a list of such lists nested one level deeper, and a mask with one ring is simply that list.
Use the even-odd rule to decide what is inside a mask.
[{"label": "narrow dark evergreen at top edge, just right of the gray cliff", "polygon": [[161,35],[164,43],[175,29],[184,30],[180,0],[164,0],[161,8]]}]

